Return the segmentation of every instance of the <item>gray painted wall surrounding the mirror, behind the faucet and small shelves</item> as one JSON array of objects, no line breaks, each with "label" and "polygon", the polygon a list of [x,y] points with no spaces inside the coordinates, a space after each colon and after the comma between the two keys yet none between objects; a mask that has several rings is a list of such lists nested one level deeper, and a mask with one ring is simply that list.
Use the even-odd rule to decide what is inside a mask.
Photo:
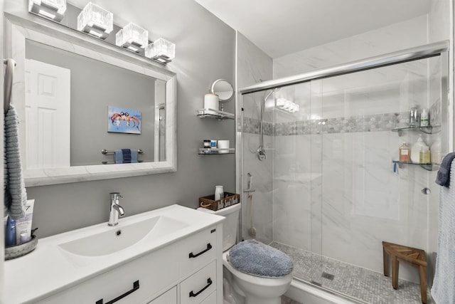
[{"label": "gray painted wall surrounding the mirror, behind the faucet and small shelves", "polygon": [[[168,69],[177,73],[178,78],[177,172],[29,187],[28,197],[36,199],[33,227],[39,227],[40,238],[107,221],[109,192],[124,196],[121,204],[127,216],[176,203],[196,208],[198,197],[213,193],[215,184],[235,192],[234,154],[198,155],[202,140],[223,139],[233,143],[234,121],[196,117],[196,110],[203,108],[203,95],[214,80],[225,78],[234,83],[235,31],[195,1],[155,2],[156,10],[146,12],[148,22],[156,22],[154,28],[161,28],[156,31],[176,43],[176,58]],[[23,14],[27,3],[6,0],[5,11]],[[122,11],[109,8],[108,3],[97,1],[113,11],[114,16],[144,15],[140,11],[141,1],[132,1],[129,9]],[[34,18],[30,14],[25,16]],[[153,33],[154,28],[148,29]],[[234,109],[234,102],[226,104],[228,112]]]}]

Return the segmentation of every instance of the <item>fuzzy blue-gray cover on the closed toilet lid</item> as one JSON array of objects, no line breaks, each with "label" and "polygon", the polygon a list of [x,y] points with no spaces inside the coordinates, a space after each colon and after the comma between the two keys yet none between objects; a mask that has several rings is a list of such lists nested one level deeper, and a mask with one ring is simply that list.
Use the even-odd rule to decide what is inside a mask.
[{"label": "fuzzy blue-gray cover on the closed toilet lid", "polygon": [[242,241],[230,248],[229,261],[238,271],[255,276],[287,276],[293,268],[286,253],[256,240]]}]

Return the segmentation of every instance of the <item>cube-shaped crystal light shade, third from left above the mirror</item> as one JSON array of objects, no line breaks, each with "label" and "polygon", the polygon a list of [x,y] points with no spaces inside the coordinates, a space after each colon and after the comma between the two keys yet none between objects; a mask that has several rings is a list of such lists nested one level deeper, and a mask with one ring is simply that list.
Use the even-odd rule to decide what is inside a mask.
[{"label": "cube-shaped crystal light shade, third from left above the mirror", "polygon": [[149,43],[149,31],[134,24],[128,23],[115,35],[115,44],[139,53]]}]

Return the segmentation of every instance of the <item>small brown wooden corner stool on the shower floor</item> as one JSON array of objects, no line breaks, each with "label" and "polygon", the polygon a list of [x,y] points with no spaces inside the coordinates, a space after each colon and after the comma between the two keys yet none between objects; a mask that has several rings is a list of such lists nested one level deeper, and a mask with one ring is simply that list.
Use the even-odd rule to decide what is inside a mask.
[{"label": "small brown wooden corner stool on the shower floor", "polygon": [[420,293],[422,303],[427,303],[427,257],[422,249],[411,248],[382,241],[382,254],[384,256],[384,276],[389,276],[389,259],[392,260],[392,287],[398,288],[398,268],[402,261],[412,267],[419,268]]}]

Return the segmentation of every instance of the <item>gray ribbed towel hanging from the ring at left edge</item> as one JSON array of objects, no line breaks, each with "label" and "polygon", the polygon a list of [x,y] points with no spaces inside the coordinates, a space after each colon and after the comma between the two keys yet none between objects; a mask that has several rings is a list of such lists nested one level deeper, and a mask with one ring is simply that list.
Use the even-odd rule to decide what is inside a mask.
[{"label": "gray ribbed towel hanging from the ring at left edge", "polygon": [[19,117],[13,105],[5,114],[4,124],[4,215],[22,219],[25,215],[27,192],[22,177],[19,154]]}]

